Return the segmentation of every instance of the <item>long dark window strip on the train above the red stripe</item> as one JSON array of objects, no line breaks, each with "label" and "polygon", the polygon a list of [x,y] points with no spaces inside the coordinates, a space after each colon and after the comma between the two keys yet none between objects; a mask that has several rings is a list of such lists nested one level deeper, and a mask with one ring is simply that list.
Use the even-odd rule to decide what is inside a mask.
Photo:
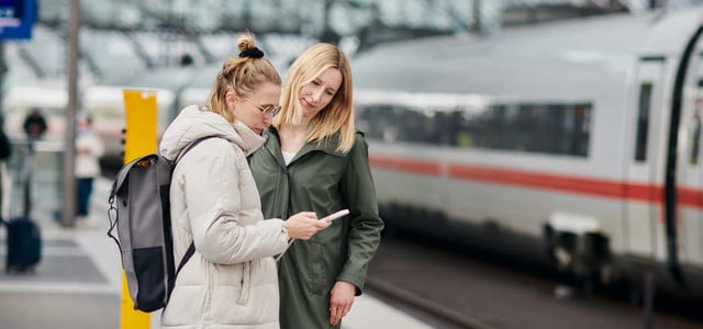
[{"label": "long dark window strip on the train above the red stripe", "polygon": [[365,105],[370,139],[588,157],[591,104],[492,104],[416,109]]}]

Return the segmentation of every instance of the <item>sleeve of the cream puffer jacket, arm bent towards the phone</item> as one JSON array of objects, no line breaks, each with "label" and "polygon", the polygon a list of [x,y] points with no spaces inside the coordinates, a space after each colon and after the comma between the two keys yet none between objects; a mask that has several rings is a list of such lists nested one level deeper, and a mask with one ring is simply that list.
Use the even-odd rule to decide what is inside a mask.
[{"label": "sleeve of the cream puffer jacket, arm bent towards the phone", "polygon": [[[254,183],[242,184],[238,168],[242,161],[237,157],[246,166],[243,152],[224,139],[214,138],[194,147],[179,163],[183,166],[182,188],[196,250],[213,263],[242,263],[281,253],[287,248],[282,220],[242,223],[244,216],[260,218],[252,213],[260,213],[260,208],[242,207],[241,194],[257,192]],[[246,173],[250,174],[248,170]]]}]

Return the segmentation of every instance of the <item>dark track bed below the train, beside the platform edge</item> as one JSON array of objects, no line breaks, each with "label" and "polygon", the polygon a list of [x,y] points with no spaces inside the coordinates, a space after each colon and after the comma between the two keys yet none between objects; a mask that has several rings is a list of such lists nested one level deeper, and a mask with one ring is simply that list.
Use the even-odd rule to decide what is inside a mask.
[{"label": "dark track bed below the train, beside the platform edge", "polygon": [[[426,240],[384,237],[368,290],[437,328],[703,328],[703,305],[648,315],[626,297],[581,294],[550,273]],[[670,304],[671,300],[657,300]],[[669,308],[672,308],[669,307]],[[699,314],[696,316],[696,314]]]}]

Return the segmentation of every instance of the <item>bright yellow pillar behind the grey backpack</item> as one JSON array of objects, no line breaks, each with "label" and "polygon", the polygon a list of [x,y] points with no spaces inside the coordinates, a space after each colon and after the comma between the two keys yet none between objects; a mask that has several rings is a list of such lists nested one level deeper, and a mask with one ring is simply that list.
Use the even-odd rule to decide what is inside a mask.
[{"label": "bright yellow pillar behind the grey backpack", "polygon": [[[124,163],[141,156],[156,152],[156,91],[124,90]],[[148,329],[148,313],[134,309],[127,281],[122,271],[121,329]]]}]

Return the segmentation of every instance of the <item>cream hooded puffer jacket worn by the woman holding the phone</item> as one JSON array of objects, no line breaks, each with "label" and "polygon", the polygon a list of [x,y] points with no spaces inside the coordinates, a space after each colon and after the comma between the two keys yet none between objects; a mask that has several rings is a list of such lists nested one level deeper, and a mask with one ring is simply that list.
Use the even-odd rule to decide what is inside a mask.
[{"label": "cream hooded puffer jacket worn by the woman holding the phone", "polygon": [[280,219],[263,220],[246,156],[264,144],[241,122],[189,106],[164,133],[167,159],[191,143],[170,188],[174,258],[191,241],[196,253],[178,274],[161,328],[278,328],[278,276],[272,256],[286,250]]}]

